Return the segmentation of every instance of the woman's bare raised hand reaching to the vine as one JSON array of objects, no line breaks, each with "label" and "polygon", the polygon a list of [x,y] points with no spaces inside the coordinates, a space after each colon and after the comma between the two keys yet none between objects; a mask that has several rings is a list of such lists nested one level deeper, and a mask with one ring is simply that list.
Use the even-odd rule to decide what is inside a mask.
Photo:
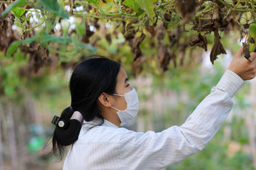
[{"label": "woman's bare raised hand reaching to the vine", "polygon": [[243,46],[239,48],[236,55],[232,59],[228,69],[239,75],[243,80],[253,79],[256,75],[256,53],[252,52],[250,60],[242,57]]}]

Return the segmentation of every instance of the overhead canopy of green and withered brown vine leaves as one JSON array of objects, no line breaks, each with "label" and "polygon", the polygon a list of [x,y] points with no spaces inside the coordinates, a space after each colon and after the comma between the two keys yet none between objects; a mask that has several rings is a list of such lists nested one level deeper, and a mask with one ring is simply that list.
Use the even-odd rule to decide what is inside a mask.
[{"label": "overhead canopy of green and withered brown vine leaves", "polygon": [[[126,62],[134,67],[134,74],[148,65],[166,71],[171,61],[175,67],[190,64],[186,51],[200,48],[211,48],[213,64],[226,53],[221,36],[234,30],[246,36],[255,22],[255,7],[254,1],[234,0],[18,0],[0,4],[0,48],[7,57],[20,49],[30,58],[32,70],[38,70],[33,69],[38,62],[36,67],[70,66],[89,54],[118,58],[125,45],[130,47],[127,56],[132,53],[132,60]],[[255,47],[252,39],[244,42],[251,48]],[[40,59],[35,58],[36,49],[42,49]],[[52,62],[55,59],[58,62]],[[156,64],[148,64],[150,60]]]}]

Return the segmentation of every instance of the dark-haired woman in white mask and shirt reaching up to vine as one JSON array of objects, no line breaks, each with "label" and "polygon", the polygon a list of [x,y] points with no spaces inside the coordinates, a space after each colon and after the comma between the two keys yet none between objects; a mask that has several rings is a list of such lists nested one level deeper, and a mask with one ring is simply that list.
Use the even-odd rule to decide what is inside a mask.
[{"label": "dark-haired woman in white mask and shirt reaching up to vine", "polygon": [[71,106],[52,120],[52,152],[62,158],[72,145],[63,169],[163,169],[186,159],[212,139],[232,109],[232,97],[255,77],[256,53],[252,62],[242,53],[241,47],[184,124],[162,132],[120,127],[138,113],[136,90],[120,63],[99,56],[84,60],[70,78]]}]

